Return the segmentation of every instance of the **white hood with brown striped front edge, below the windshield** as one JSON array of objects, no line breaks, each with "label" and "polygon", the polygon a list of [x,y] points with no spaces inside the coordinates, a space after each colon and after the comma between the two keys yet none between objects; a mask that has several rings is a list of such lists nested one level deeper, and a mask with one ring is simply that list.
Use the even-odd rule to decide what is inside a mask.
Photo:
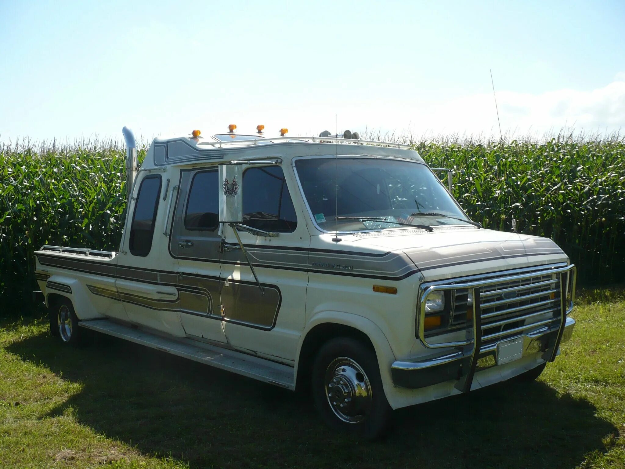
[{"label": "white hood with brown striped front edge, below the windshield", "polygon": [[548,238],[472,226],[435,228],[432,233],[385,230],[346,238],[357,250],[401,253],[426,281],[568,261]]}]

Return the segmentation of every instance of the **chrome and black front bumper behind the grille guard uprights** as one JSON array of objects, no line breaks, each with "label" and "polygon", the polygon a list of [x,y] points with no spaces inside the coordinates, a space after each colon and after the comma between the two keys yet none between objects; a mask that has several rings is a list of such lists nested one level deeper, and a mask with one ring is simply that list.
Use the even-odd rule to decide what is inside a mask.
[{"label": "chrome and black front bumper behind the grille guard uprights", "polygon": [[[575,320],[567,317],[559,343],[566,342],[571,338]],[[532,333],[520,335],[523,338],[522,356],[536,353],[547,353],[554,346],[559,346],[559,325],[546,326]],[[506,340],[509,340],[507,338]],[[557,353],[557,348],[556,348]],[[546,357],[549,358],[549,357]],[[391,376],[394,386],[402,388],[424,388],[436,385],[444,381],[460,380],[466,375],[467,356],[462,351],[456,350],[443,355],[430,356],[426,359],[414,361],[395,361],[391,365]],[[486,370],[497,363],[497,344],[482,346],[474,372]],[[514,362],[512,362],[514,363]]]}]

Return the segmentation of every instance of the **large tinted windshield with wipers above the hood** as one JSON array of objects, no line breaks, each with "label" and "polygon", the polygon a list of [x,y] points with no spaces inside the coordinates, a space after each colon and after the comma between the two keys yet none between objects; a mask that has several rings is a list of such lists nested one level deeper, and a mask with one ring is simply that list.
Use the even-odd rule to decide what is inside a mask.
[{"label": "large tinted windshield with wipers above the hood", "polygon": [[326,231],[464,224],[462,220],[467,219],[422,163],[389,158],[305,158],[298,159],[295,168],[312,216]]}]

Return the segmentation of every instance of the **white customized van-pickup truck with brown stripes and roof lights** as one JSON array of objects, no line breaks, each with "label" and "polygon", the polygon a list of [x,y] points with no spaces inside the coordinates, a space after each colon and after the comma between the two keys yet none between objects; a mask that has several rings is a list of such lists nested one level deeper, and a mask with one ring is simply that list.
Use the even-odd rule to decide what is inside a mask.
[{"label": "white customized van-pickup truck with brown stripes and roof lights", "polygon": [[576,270],[553,241],[481,228],[407,145],[284,133],[157,138],[138,168],[124,128],[119,252],[36,251],[51,333],[310,390],[365,438],[556,358]]}]

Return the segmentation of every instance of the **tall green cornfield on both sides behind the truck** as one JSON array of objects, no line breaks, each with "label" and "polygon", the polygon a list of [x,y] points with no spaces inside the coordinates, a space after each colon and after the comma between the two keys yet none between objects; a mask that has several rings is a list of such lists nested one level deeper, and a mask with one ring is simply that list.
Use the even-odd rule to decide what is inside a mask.
[{"label": "tall green cornfield on both sides behind the truck", "polygon": [[[454,196],[486,228],[509,231],[514,217],[519,232],[555,240],[579,266],[582,284],[623,280],[623,138],[414,146],[431,166],[454,169]],[[40,246],[118,250],[124,181],[124,149],[114,141],[0,143],[0,315],[30,305],[32,253]]]}]

